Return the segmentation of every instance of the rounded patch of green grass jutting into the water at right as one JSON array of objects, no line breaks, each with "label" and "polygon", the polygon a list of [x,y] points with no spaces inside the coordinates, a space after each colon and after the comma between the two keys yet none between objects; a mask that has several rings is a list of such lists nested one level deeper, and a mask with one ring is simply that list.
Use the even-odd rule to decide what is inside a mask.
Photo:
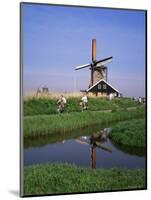
[{"label": "rounded patch of green grass jutting into the water at right", "polygon": [[133,119],[119,122],[113,126],[110,138],[120,145],[145,147],[145,119]]}]

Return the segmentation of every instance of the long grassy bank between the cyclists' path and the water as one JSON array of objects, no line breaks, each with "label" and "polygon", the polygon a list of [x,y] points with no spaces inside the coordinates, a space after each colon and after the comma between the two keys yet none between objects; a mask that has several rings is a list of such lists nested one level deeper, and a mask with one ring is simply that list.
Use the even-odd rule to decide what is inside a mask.
[{"label": "long grassy bank between the cyclists' path and the water", "polygon": [[54,133],[69,132],[75,129],[92,126],[95,124],[108,124],[110,122],[123,121],[144,117],[144,108],[131,111],[117,112],[75,112],[58,115],[37,115],[24,117],[24,137],[35,137]]}]

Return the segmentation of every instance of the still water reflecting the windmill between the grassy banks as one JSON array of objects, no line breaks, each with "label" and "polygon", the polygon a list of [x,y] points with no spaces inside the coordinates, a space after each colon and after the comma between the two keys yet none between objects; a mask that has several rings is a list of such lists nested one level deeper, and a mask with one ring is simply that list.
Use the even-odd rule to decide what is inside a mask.
[{"label": "still water reflecting the windmill between the grassy banks", "polygon": [[[110,139],[96,139],[100,128],[104,130],[104,127],[95,126],[70,134],[26,140],[24,165],[61,162],[92,168],[145,167],[145,149],[119,146]],[[105,130],[107,133],[110,129]]]}]

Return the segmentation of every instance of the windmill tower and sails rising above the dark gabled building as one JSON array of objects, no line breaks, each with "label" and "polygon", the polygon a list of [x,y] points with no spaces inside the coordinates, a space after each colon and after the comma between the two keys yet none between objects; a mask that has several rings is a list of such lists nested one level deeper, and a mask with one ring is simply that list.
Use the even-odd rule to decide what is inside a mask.
[{"label": "windmill tower and sails rising above the dark gabled building", "polygon": [[75,70],[80,70],[89,67],[91,70],[91,80],[89,87],[92,87],[99,80],[107,81],[107,67],[106,64],[112,62],[113,57],[107,57],[102,60],[96,60],[96,39],[92,40],[92,62],[80,65],[75,68]]}]

